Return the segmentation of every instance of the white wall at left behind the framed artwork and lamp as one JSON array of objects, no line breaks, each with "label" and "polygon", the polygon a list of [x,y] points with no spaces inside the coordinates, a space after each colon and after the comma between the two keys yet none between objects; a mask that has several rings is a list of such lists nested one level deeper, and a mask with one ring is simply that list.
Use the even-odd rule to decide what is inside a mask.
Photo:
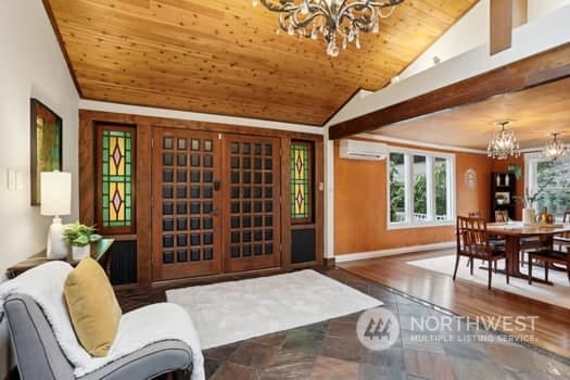
[{"label": "white wall at left behind the framed artwork and lamp", "polygon": [[[0,1],[0,275],[41,251],[50,218],[30,206],[29,98],[63,118],[63,168],[73,173],[77,194],[78,96],[41,0]],[[8,168],[23,175],[22,190],[8,190]],[[73,215],[78,200],[73,200]],[[5,321],[0,325],[0,378],[7,370]]]}]

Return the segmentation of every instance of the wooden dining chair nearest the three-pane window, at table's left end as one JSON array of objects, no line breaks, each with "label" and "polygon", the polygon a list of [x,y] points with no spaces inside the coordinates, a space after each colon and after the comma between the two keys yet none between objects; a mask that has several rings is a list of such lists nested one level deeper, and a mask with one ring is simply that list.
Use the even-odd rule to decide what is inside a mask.
[{"label": "wooden dining chair nearest the three-pane window, at table's left end", "polygon": [[[487,289],[491,289],[491,278],[493,274],[491,263],[505,259],[505,267],[508,267],[505,245],[494,245],[491,243],[486,231],[486,221],[482,217],[457,216],[456,239],[457,250],[453,280],[455,281],[457,277],[457,268],[461,256],[466,256],[469,259],[471,276],[473,275],[473,259],[480,258],[487,262]],[[508,270],[505,273],[507,275],[507,283],[509,283]]]}]

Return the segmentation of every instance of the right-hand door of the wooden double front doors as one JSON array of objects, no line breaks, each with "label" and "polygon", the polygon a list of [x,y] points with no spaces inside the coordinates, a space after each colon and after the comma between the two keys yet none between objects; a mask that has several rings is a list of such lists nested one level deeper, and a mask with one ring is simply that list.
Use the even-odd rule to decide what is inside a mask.
[{"label": "right-hand door of the wooden double front doors", "polygon": [[279,139],[224,136],[224,271],[279,267]]}]

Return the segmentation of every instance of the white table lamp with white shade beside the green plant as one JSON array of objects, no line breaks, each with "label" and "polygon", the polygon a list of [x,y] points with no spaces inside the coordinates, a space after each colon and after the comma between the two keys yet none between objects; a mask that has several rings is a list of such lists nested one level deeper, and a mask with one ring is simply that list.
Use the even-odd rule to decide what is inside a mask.
[{"label": "white table lamp with white shade beside the green plant", "polygon": [[42,172],[40,194],[40,214],[53,216],[48,232],[46,256],[48,258],[65,258],[67,246],[63,241],[63,225],[60,216],[72,213],[72,174]]}]

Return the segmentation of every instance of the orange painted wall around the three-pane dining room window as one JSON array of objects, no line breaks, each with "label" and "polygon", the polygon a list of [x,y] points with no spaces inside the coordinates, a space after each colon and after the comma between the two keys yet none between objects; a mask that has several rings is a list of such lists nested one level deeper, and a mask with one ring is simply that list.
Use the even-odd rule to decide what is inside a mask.
[{"label": "orange painted wall around the three-pane dining room window", "polygon": [[[483,154],[455,154],[457,213],[466,215],[471,211],[480,211],[487,217],[492,162]],[[473,190],[468,189],[464,180],[464,174],[468,168],[474,169],[477,174],[477,185]],[[335,254],[431,244],[455,239],[454,226],[388,230],[387,179],[385,161],[342,160],[339,157],[338,142],[335,142]]]}]

